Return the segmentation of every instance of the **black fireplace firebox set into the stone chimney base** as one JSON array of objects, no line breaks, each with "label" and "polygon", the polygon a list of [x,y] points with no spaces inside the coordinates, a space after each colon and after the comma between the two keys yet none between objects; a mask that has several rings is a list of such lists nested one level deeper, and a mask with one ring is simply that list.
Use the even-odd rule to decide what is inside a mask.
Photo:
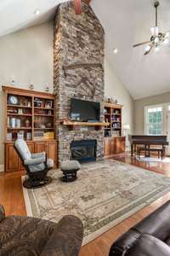
[{"label": "black fireplace firebox set into the stone chimney base", "polygon": [[71,142],[71,159],[80,162],[96,160],[97,140]]}]

